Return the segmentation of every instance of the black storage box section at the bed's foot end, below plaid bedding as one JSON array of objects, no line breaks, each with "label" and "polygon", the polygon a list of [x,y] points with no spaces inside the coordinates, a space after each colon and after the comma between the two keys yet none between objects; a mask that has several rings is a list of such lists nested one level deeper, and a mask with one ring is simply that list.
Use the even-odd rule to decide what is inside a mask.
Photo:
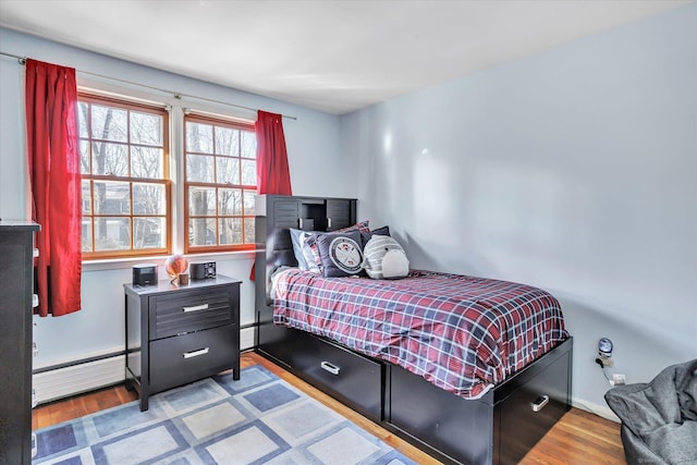
[{"label": "black storage box section at the bed's foot end, below plaid bedding", "polygon": [[571,354],[570,339],[478,400],[433,390],[421,377],[392,366],[387,419],[436,456],[516,464],[570,408]]}]

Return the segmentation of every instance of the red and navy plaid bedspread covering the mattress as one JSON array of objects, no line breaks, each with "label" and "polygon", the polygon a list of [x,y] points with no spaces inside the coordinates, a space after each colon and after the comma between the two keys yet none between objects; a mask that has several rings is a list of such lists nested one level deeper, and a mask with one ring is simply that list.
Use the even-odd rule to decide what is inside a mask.
[{"label": "red and navy plaid bedspread covering the mattress", "polygon": [[400,280],[277,277],[273,320],[478,399],[568,338],[557,298],[529,285],[412,270]]}]

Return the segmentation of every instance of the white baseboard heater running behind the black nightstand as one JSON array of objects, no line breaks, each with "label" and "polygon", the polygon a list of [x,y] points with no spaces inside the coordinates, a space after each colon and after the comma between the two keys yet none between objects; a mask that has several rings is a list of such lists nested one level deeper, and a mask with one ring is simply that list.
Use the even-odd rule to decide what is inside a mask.
[{"label": "white baseboard heater running behind the black nightstand", "polygon": [[[242,328],[241,350],[254,347],[254,331],[253,326]],[[124,372],[125,356],[122,351],[35,370],[32,382],[36,400],[42,404],[119,384],[125,379]]]}]

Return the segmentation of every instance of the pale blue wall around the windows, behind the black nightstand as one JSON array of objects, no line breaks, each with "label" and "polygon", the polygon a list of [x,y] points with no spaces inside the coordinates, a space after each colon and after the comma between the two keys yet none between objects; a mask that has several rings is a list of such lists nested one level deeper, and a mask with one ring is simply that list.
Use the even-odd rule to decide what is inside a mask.
[{"label": "pale blue wall around the windows, behind the black nightstand", "polygon": [[[140,98],[170,103],[173,106],[173,114],[181,114],[181,108],[185,107],[253,121],[256,119],[254,112],[205,103],[196,99],[176,100],[171,95],[98,78],[93,74],[296,117],[297,120],[283,121],[294,193],[340,197],[355,195],[355,187],[351,183],[353,176],[318,175],[355,171],[354,160],[344,160],[340,154],[339,117],[139,66],[4,28],[0,28],[0,51],[75,68],[78,85],[117,93],[129,91]],[[4,56],[0,56],[0,218],[28,219],[24,66],[19,64],[16,59]],[[181,142],[173,140],[172,147],[176,151]],[[180,205],[181,201],[180,199]],[[242,325],[254,322],[254,283],[248,279],[253,264],[252,254],[189,257],[189,261],[208,259],[217,261],[219,273],[243,279],[241,320]],[[85,264],[82,311],[60,318],[35,318],[37,327],[34,336],[39,345],[39,356],[34,362],[35,368],[122,351],[122,285],[131,280],[131,266],[143,261],[163,264],[162,258]],[[166,276],[161,266],[159,272],[160,276]]]}]

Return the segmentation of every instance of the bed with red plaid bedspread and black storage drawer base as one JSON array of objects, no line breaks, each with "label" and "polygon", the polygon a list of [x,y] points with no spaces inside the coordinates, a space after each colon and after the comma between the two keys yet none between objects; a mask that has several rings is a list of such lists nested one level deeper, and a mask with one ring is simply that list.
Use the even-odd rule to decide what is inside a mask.
[{"label": "bed with red plaid bedspread and black storage drawer base", "polygon": [[[296,200],[257,206],[262,355],[447,463],[517,463],[570,408],[572,338],[553,296],[423,270],[400,280],[298,270],[286,207],[315,230],[331,221],[321,206],[302,208],[326,199]],[[337,227],[355,220],[346,205],[354,213]]]}]

